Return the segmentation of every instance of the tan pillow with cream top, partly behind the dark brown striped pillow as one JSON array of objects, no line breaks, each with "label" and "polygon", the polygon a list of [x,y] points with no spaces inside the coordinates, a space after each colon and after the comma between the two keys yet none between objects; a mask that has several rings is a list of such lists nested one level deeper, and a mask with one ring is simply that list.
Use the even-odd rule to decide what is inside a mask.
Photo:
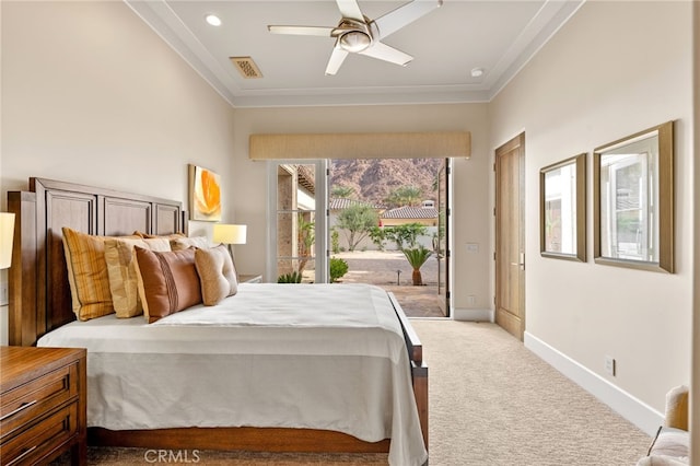
[{"label": "tan pillow with cream top, partly behind the dark brown striped pillow", "polygon": [[133,246],[160,252],[171,251],[171,243],[167,238],[105,241],[105,261],[107,263],[112,303],[119,318],[133,317],[143,313],[139,298]]}]

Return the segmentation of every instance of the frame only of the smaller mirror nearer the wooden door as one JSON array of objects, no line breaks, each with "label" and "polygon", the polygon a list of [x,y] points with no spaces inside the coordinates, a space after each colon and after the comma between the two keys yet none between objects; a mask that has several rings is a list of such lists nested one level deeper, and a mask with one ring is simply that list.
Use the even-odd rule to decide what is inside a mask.
[{"label": "frame only of the smaller mirror nearer the wooden door", "polygon": [[[539,252],[542,257],[551,257],[564,260],[586,261],[586,153],[574,155],[539,171]],[[564,166],[574,166],[576,174],[575,186],[575,219],[574,231],[576,241],[573,253],[560,253],[547,251],[547,174]]]}]

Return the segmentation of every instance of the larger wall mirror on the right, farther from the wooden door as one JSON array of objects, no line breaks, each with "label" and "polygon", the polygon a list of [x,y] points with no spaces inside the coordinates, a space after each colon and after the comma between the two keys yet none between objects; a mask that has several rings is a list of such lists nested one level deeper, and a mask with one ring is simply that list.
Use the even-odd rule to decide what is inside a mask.
[{"label": "larger wall mirror on the right, farther from the wooden door", "polygon": [[673,272],[673,121],[597,148],[593,168],[595,261]]}]

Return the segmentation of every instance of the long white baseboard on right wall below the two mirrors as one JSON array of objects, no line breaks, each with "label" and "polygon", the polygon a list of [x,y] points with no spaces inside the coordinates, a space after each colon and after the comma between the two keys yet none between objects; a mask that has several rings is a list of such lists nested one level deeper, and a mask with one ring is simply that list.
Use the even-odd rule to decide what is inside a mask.
[{"label": "long white baseboard on right wall below the two mirrors", "polygon": [[645,403],[611,384],[600,375],[581,365],[567,354],[558,351],[532,334],[525,333],[525,348],[548,362],[559,372],[571,378],[583,389],[605,403],[628,421],[646,432],[656,434],[658,426],[664,422],[664,415]]}]

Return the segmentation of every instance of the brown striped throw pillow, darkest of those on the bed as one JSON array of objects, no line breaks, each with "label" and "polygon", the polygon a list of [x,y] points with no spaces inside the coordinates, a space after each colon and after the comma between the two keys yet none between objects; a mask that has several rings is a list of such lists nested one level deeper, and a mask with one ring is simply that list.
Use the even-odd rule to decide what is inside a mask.
[{"label": "brown striped throw pillow, darkest of those on the bed", "polygon": [[195,248],[159,253],[133,248],[139,295],[149,324],[201,303]]}]

